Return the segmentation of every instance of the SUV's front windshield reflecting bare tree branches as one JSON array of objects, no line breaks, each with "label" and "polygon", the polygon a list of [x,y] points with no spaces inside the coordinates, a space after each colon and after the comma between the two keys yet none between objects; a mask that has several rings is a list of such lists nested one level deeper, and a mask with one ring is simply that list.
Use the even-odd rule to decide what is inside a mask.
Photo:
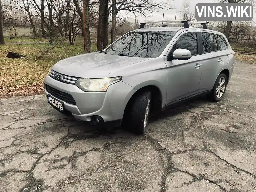
[{"label": "SUV's front windshield reflecting bare tree branches", "polygon": [[128,57],[158,57],[175,34],[174,31],[131,32],[114,42],[104,53]]}]

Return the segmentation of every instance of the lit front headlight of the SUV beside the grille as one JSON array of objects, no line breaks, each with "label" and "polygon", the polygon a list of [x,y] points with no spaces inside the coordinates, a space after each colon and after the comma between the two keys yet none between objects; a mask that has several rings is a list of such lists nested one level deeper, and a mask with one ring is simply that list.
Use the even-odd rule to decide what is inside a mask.
[{"label": "lit front headlight of the SUV beside the grille", "polygon": [[88,92],[104,92],[108,87],[118,81],[121,81],[122,77],[102,78],[102,79],[78,79],[76,86],[83,91]]}]

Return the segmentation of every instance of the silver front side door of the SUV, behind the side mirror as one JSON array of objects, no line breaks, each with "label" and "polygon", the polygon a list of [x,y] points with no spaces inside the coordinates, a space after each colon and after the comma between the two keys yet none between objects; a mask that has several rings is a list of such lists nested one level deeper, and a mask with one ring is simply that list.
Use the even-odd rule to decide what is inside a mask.
[{"label": "silver front side door of the SUV, behind the side mirror", "polygon": [[[202,72],[201,58],[198,55],[198,48],[200,47],[198,40],[197,31],[182,32],[167,53],[165,59],[167,65],[167,105],[196,94],[198,90]],[[170,57],[177,48],[188,49],[191,52],[191,58],[178,60]]]}]

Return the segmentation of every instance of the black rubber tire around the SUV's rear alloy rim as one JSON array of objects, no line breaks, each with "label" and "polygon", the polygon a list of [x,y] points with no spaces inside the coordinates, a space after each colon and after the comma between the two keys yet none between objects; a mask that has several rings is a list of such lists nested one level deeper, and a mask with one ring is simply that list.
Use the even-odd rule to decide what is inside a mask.
[{"label": "black rubber tire around the SUV's rear alloy rim", "polygon": [[[224,86],[222,85],[222,89],[219,89],[219,85],[220,85],[220,83],[219,83],[219,81],[222,81],[222,80],[225,80],[225,88],[224,88]],[[225,92],[226,92],[226,88],[227,88],[227,84],[228,84],[228,81],[227,81],[227,76],[224,74],[224,73],[221,73],[219,76],[218,76],[218,78],[216,79],[216,82],[215,82],[215,84],[214,84],[214,86],[213,86],[213,89],[212,89],[212,92],[210,93],[210,98],[214,101],[214,102],[218,102],[218,101],[220,101],[223,97],[224,97],[224,94],[225,94]],[[219,94],[219,92],[218,93],[216,93],[217,92],[217,89],[219,89],[219,92],[220,92],[220,94]],[[224,89],[224,91],[223,91],[223,89]],[[217,94],[218,94],[218,96],[217,96]]]}]

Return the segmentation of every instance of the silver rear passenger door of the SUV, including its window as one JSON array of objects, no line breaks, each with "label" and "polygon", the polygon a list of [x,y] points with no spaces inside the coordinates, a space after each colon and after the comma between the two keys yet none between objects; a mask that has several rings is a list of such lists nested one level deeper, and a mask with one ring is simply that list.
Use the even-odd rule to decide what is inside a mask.
[{"label": "silver rear passenger door of the SUV, including its window", "polygon": [[[202,76],[198,93],[212,90],[215,80],[223,69],[225,51],[221,51],[213,32],[200,32],[202,45]],[[224,53],[224,54],[223,54]]]}]

